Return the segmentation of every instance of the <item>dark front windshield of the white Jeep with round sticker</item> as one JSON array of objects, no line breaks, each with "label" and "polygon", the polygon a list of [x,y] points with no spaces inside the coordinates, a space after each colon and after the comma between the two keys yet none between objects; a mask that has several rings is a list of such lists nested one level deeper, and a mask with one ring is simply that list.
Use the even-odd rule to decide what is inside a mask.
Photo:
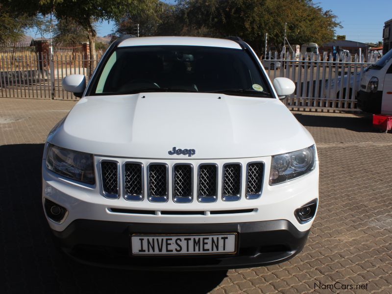
[{"label": "dark front windshield of the white Jeep with round sticker", "polygon": [[243,49],[200,46],[117,48],[98,71],[92,95],[203,92],[273,97]]}]

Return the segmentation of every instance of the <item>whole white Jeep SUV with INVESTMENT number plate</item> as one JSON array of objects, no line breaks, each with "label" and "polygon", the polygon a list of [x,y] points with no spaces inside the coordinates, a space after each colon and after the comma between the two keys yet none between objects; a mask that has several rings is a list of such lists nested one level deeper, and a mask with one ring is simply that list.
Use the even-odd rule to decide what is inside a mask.
[{"label": "whole white Jeep SUV with INVESTMENT number plate", "polygon": [[[139,270],[256,267],[305,245],[315,142],[241,39],[125,36],[50,131],[42,201],[80,262]],[[195,258],[197,257],[197,258]]]}]

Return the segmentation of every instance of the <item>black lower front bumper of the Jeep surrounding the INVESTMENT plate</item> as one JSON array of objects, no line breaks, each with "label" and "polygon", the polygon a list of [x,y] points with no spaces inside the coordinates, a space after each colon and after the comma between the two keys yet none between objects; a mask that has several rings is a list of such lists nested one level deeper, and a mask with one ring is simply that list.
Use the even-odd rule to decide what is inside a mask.
[{"label": "black lower front bumper of the Jeep surrounding the INVESTMENT plate", "polygon": [[[95,266],[138,270],[226,270],[284,262],[299,253],[309,230],[298,231],[286,220],[242,223],[132,223],[75,220],[54,240],[73,259]],[[130,236],[139,234],[238,233],[236,255],[130,255]]]}]

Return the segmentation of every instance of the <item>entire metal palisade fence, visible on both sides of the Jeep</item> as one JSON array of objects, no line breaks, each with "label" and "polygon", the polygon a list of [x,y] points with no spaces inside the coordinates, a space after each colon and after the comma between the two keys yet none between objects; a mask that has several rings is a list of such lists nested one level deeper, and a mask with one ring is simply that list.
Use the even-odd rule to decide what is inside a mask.
[{"label": "entire metal palisade fence, visible on both sides of the Jeep", "polygon": [[[102,54],[91,57],[77,44],[53,48],[52,54],[37,53],[29,45],[0,45],[0,97],[77,100],[63,90],[62,79],[77,73],[88,80],[89,64],[96,66]],[[294,81],[294,94],[282,100],[289,109],[357,112],[363,70],[376,58],[338,55],[336,59],[325,53],[295,57],[270,52],[262,63],[272,81],[275,77]]]}]

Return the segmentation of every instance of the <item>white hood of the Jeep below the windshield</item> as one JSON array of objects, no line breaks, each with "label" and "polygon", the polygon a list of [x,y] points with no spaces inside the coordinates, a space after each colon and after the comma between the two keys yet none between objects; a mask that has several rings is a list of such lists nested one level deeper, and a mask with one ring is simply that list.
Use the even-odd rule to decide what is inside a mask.
[{"label": "white hood of the Jeep below the windshield", "polygon": [[[278,99],[209,93],[82,98],[48,142],[97,155],[188,160],[268,156],[314,144]],[[195,154],[170,155],[173,147]]]}]

